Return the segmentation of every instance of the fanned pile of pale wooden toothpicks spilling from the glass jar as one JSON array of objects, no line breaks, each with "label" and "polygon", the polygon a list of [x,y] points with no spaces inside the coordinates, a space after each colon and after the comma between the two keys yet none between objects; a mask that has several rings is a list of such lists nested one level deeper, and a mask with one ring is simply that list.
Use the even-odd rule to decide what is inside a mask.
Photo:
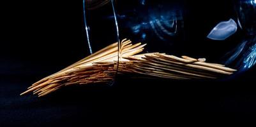
[{"label": "fanned pile of pale wooden toothpicks spilling from the glass jar", "polygon": [[197,59],[187,56],[179,58],[165,53],[139,54],[144,50],[146,44],[132,44],[129,39],[121,41],[119,52],[117,45],[118,43],[110,44],[93,55],[41,79],[20,95],[33,92],[34,95],[42,97],[63,86],[110,84],[114,81],[117,64],[119,64],[118,74],[128,74],[129,76],[135,74],[146,78],[216,79],[236,71],[225,67],[225,65],[207,63],[206,58]]}]

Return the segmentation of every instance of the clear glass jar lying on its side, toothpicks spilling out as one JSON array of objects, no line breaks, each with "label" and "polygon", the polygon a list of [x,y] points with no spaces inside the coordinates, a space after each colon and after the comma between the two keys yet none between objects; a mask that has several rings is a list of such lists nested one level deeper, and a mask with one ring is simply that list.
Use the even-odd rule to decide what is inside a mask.
[{"label": "clear glass jar lying on its side, toothpicks spilling out", "polygon": [[255,65],[256,1],[84,0],[91,53],[121,40],[147,43],[143,53],[187,55],[239,72]]}]

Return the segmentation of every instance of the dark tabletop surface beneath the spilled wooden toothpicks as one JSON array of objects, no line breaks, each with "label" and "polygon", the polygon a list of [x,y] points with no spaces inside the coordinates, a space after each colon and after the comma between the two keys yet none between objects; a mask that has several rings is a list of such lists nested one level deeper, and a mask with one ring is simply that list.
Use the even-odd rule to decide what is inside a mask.
[{"label": "dark tabletop surface beneath the spilled wooden toothpicks", "polygon": [[77,86],[47,97],[20,97],[36,81],[32,77],[1,80],[1,126],[210,125],[255,119],[255,89],[242,82],[252,77],[240,77],[238,84],[126,80],[112,87]]}]

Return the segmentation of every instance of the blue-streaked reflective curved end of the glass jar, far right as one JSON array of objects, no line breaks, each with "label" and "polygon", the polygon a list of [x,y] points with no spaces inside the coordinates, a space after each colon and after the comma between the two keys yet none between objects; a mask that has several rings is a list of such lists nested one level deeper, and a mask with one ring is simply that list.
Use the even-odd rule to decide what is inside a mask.
[{"label": "blue-streaked reflective curved end of the glass jar, far right", "polygon": [[239,26],[246,35],[227,63],[239,59],[237,66],[245,71],[256,64],[256,0],[237,0],[235,9]]}]

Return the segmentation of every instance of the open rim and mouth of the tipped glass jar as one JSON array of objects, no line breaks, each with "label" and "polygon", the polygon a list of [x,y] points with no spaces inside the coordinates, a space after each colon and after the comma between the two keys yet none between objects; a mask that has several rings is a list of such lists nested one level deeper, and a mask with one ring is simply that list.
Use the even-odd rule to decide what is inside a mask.
[{"label": "open rim and mouth of the tipped glass jar", "polygon": [[[108,13],[105,13],[104,8],[107,8],[110,11]],[[107,29],[105,29],[105,33],[102,32],[102,34],[100,34],[100,35],[107,34],[107,36],[106,35],[105,36],[107,38],[111,38],[111,39],[109,39],[109,42],[107,42],[107,44],[105,46],[107,46],[113,42],[117,42],[116,74],[114,76],[114,81],[112,83],[112,84],[114,84],[115,80],[116,80],[117,73],[118,73],[119,59],[121,58],[121,54],[120,54],[121,41],[119,39],[119,27],[118,27],[119,24],[118,24],[117,15],[116,15],[115,0],[95,0],[95,1],[94,0],[91,0],[91,1],[83,0],[83,12],[84,12],[83,13],[84,30],[86,32],[87,45],[89,48],[89,52],[91,54],[93,54],[94,51],[100,50],[104,46],[99,46],[100,44],[97,44],[97,43],[102,43],[102,42],[100,42],[102,40],[96,40],[96,41],[94,40],[97,36],[96,34],[98,34],[98,33],[95,32],[96,29],[94,29],[94,27],[91,26],[93,23],[90,24],[88,22],[92,18],[98,17],[98,15],[95,15],[98,13],[101,16],[103,15],[103,17],[104,17],[103,21],[101,21],[102,23],[98,24],[98,25],[102,26],[102,29],[105,29],[104,27],[108,26],[108,25],[111,25],[112,27],[114,27],[114,29],[112,29],[112,28],[109,29],[111,31],[107,31]],[[102,13],[100,13],[100,12],[102,12]],[[99,17],[98,17],[98,19],[102,20],[102,18],[99,18]],[[112,37],[108,37],[110,34]],[[98,47],[98,49],[95,47]]]}]

